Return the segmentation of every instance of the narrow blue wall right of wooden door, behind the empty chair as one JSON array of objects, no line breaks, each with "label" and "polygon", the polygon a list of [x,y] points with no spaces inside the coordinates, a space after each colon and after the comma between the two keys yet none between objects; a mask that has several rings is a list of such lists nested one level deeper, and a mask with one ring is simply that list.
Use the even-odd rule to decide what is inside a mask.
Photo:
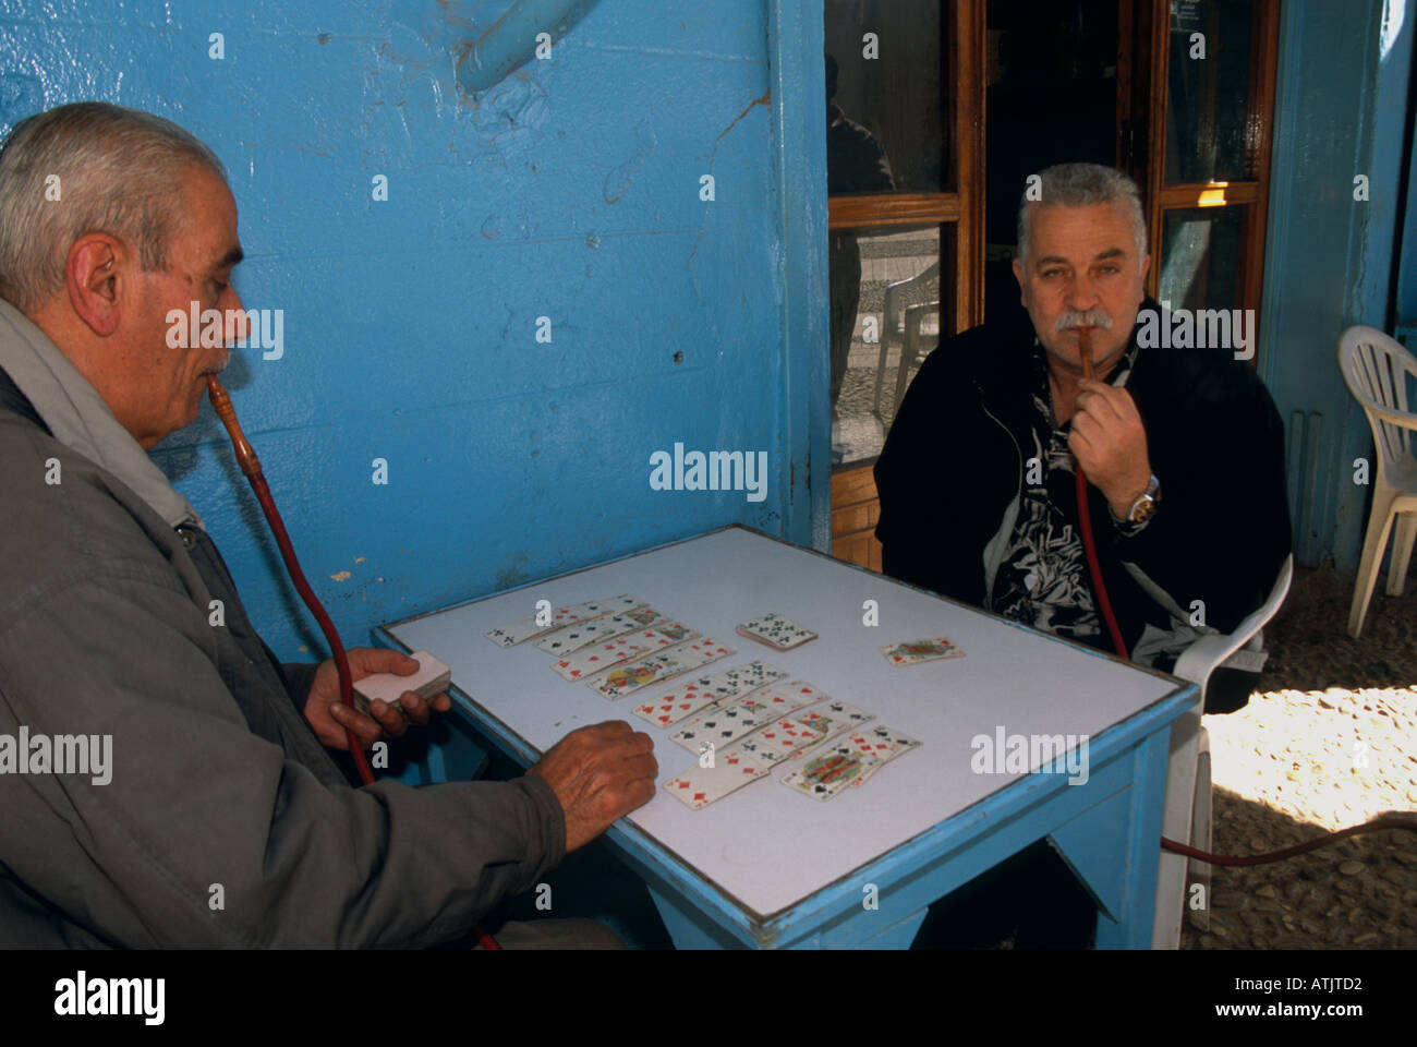
[{"label": "narrow blue wall right of wooden door, behind the empty chair", "polygon": [[[1338,338],[1387,326],[1414,31],[1413,0],[1281,6],[1260,370],[1287,427],[1298,558],[1343,572],[1367,524],[1353,460],[1372,461],[1372,436]],[[1357,174],[1367,201],[1353,199]]]}]

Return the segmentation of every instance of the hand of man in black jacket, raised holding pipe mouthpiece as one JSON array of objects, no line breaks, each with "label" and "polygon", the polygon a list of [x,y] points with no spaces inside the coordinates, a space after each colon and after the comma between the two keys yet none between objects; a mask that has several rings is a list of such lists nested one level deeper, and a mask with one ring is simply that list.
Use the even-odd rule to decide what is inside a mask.
[{"label": "hand of man in black jacket, raised holding pipe mouthpiece", "polygon": [[1125,519],[1152,474],[1146,430],[1132,394],[1095,379],[1078,382],[1067,445],[1088,482],[1107,497],[1112,515]]}]

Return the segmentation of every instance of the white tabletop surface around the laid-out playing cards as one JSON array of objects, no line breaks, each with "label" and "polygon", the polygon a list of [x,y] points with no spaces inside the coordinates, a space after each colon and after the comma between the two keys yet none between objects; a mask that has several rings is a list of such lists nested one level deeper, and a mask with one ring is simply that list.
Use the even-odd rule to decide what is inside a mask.
[{"label": "white tabletop surface around the laid-out playing cards", "polygon": [[[584,682],[557,675],[551,655],[534,641],[500,648],[483,636],[533,614],[541,599],[563,607],[618,593],[734,648],[734,655],[679,682],[761,658],[924,745],[829,802],[778,783],[802,766],[799,759],[779,763],[771,782],[760,779],[690,810],[663,783],[696,766],[697,758],[669,741],[677,728],[655,728],[631,714],[672,684],[606,701]],[[866,600],[879,604],[879,627],[862,624]],[[819,638],[779,653],[734,631],[765,611],[782,613]],[[761,915],[806,898],[1020,777],[973,773],[976,735],[992,736],[1002,726],[1009,735],[1095,738],[1179,682],[741,528],[410,619],[388,633],[445,661],[459,689],[537,750],[604,719],[626,719],[649,733],[660,789],[631,820]],[[881,644],[934,636],[954,640],[965,657],[891,665],[880,654]]]}]

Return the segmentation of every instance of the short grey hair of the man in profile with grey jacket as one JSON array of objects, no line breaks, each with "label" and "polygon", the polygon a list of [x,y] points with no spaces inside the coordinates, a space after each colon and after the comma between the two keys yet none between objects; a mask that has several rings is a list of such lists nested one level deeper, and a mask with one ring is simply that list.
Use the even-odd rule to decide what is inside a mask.
[{"label": "short grey hair of the man in profile with grey jacket", "polygon": [[139,109],[74,102],[16,123],[0,145],[0,297],[38,309],[64,288],[69,248],[86,233],[120,237],[145,272],[164,271],[193,165],[225,182],[211,149]]}]

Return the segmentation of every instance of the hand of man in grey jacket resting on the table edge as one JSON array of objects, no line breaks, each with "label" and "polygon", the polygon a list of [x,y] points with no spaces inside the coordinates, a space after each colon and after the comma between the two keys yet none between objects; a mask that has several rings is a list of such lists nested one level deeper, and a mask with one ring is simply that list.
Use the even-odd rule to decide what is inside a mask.
[{"label": "hand of man in grey jacket resting on the table edge", "polygon": [[565,851],[584,847],[655,796],[655,742],[622,719],[572,731],[529,775],[546,780],[565,811]]}]

